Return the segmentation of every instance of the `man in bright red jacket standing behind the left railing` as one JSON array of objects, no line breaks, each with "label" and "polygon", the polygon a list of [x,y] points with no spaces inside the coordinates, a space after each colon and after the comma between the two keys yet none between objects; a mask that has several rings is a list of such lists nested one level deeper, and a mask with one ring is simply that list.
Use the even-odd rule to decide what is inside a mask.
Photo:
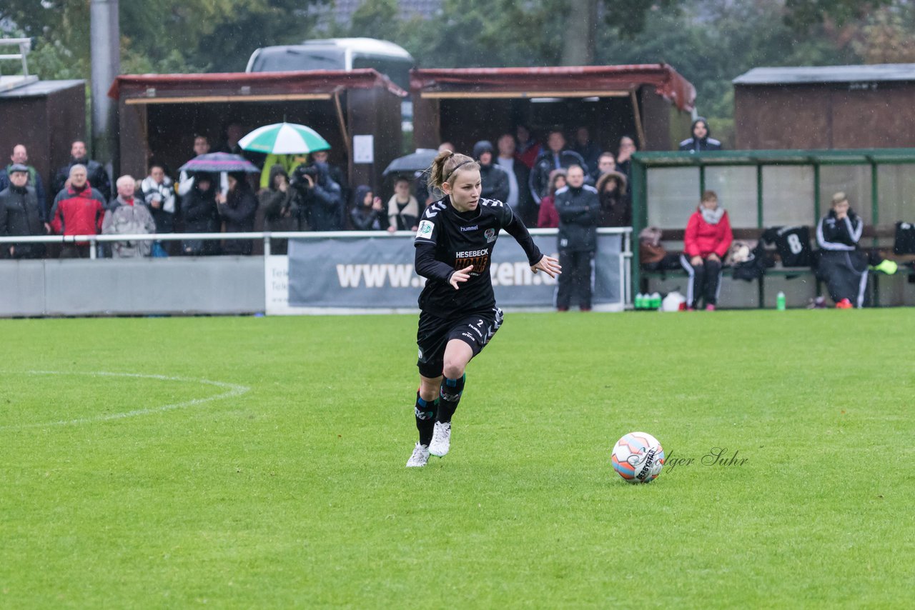
[{"label": "man in bright red jacket standing behind the left railing", "polygon": [[[89,184],[86,166],[70,167],[69,182],[54,198],[51,230],[59,235],[98,235],[105,214],[102,193]],[[89,258],[89,247],[88,241],[65,243],[60,258]]]}]

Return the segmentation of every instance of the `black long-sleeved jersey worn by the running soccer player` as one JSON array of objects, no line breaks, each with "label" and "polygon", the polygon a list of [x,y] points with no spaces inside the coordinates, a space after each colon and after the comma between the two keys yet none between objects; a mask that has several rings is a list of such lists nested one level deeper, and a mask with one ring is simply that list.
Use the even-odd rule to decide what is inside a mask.
[{"label": "black long-sleeved jersey worn by the running soccer player", "polygon": [[[490,278],[492,249],[499,230],[506,230],[534,265],[543,254],[524,224],[507,205],[494,199],[479,199],[477,209],[461,213],[446,197],[430,205],[419,221],[414,246],[416,273],[426,278],[419,295],[419,308],[434,316],[490,309],[496,304]],[[472,266],[470,278],[448,284],[451,274]]]}]

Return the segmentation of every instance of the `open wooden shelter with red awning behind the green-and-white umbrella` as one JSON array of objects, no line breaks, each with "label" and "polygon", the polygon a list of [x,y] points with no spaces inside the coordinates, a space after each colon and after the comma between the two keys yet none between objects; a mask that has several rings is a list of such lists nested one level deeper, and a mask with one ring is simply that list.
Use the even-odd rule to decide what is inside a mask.
[{"label": "open wooden shelter with red awning behind the green-and-white umbrella", "polygon": [[[406,91],[375,70],[310,70],[211,74],[140,74],[114,80],[120,167],[146,175],[155,160],[174,173],[194,155],[195,134],[212,150],[229,123],[247,132],[270,123],[302,123],[331,145],[330,163],[350,184],[373,184],[401,149],[401,99]],[[371,163],[353,157],[353,136],[372,135]]]}]

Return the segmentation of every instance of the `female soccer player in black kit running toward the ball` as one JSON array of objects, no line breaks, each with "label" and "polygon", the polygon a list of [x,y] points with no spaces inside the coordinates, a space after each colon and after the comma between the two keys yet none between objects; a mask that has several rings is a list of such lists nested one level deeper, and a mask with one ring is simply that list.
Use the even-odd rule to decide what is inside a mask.
[{"label": "female soccer player in black kit running toward the ball", "polygon": [[445,198],[431,204],[414,241],[416,273],[426,278],[419,295],[419,442],[407,467],[425,466],[451,444],[451,416],[464,391],[464,369],[502,323],[490,280],[490,256],[501,229],[521,244],[531,271],[555,277],[559,262],[537,249],[524,225],[501,201],[479,197],[479,165],[467,155],[439,153],[429,186]]}]

